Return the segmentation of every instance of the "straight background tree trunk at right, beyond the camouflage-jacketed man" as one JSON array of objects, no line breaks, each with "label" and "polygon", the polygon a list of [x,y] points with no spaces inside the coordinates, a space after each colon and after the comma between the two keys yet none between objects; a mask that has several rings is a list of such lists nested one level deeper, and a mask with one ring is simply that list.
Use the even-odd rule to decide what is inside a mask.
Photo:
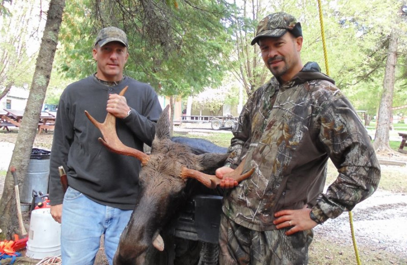
[{"label": "straight background tree trunk at right, beyond the camouflage-jacketed man", "polygon": [[387,53],[385,77],[383,81],[383,95],[377,116],[376,134],[373,147],[376,152],[391,152],[389,145],[389,131],[391,126],[394,80],[397,62],[397,33],[395,30],[390,34],[389,48]]}]

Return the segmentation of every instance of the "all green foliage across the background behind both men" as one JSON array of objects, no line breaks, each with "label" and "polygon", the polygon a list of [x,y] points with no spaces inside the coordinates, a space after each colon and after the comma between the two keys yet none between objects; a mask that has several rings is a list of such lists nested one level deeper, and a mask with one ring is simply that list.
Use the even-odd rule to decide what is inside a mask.
[{"label": "all green foliage across the background behind both men", "polygon": [[[388,34],[396,23],[400,31],[406,31],[405,16],[397,14],[399,5],[396,0],[323,3],[330,75],[354,107],[369,115],[377,113],[383,90]],[[326,72],[314,0],[279,0],[267,6],[223,0],[73,0],[66,5],[56,65],[59,73],[72,80],[95,72],[94,38],[102,26],[115,25],[129,37],[125,74],[150,83],[160,94],[185,97],[205,87],[218,87],[226,69],[250,94],[271,77],[257,45],[251,46],[250,41],[258,21],[276,11],[301,21],[303,63],[318,62]],[[393,107],[407,100],[404,35],[399,41]],[[405,114],[407,109],[397,113]]]}]

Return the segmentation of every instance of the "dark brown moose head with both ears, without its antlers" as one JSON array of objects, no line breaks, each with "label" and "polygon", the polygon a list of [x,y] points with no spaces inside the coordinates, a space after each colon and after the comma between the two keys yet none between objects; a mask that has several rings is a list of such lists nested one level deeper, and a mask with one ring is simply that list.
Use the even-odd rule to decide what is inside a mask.
[{"label": "dark brown moose head with both ears, without its antlers", "polygon": [[171,141],[168,107],[156,126],[151,155],[139,174],[141,193],[131,219],[123,231],[113,264],[144,264],[147,249],[182,203],[186,178],[182,167],[214,171],[224,165],[227,154],[196,155],[186,145]]}]

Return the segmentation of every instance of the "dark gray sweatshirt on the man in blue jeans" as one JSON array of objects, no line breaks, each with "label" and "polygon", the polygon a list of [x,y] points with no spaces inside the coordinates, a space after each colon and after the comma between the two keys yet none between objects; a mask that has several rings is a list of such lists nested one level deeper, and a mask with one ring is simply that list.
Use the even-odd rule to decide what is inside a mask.
[{"label": "dark gray sweatshirt on the man in blue jeans", "polygon": [[139,192],[140,162],[131,156],[109,151],[98,138],[102,137],[85,116],[88,111],[103,122],[109,94],[124,95],[131,114],[117,119],[119,139],[127,146],[143,150],[151,145],[155,125],[161,114],[157,94],[148,84],[125,77],[117,86],[106,86],[94,76],[69,85],[60,98],[56,114],[50,158],[49,196],[51,205],[61,204],[64,194],[57,168],[67,171],[70,187],[103,205],[133,209]]}]

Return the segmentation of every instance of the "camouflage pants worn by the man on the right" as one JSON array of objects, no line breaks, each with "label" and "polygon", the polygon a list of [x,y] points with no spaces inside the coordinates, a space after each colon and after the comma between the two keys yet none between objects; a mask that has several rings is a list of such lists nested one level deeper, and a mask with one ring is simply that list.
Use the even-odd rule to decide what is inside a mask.
[{"label": "camouflage pants worn by the man on the right", "polygon": [[286,229],[255,231],[222,215],[219,234],[219,264],[308,264],[312,230],[285,235]]}]

